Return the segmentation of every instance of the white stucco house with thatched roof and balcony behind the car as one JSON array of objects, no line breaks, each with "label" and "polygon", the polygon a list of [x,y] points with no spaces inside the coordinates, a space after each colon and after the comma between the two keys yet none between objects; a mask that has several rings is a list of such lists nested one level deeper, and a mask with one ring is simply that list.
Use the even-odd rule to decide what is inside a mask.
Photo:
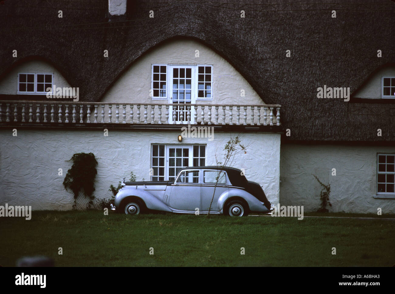
[{"label": "white stucco house with thatched roof and balcony behind the car", "polygon": [[329,212],[395,213],[395,53],[382,30],[395,8],[350,1],[333,18],[337,4],[321,2],[284,13],[92,0],[62,4],[60,20],[43,1],[31,10],[62,25],[38,28],[39,13],[6,4],[0,20],[25,17],[9,17],[0,44],[0,205],[72,209],[62,183],[76,153],[95,155],[100,199],[131,172],[168,181],[216,165],[239,137],[232,166],[273,205],[318,210],[318,178]]}]

